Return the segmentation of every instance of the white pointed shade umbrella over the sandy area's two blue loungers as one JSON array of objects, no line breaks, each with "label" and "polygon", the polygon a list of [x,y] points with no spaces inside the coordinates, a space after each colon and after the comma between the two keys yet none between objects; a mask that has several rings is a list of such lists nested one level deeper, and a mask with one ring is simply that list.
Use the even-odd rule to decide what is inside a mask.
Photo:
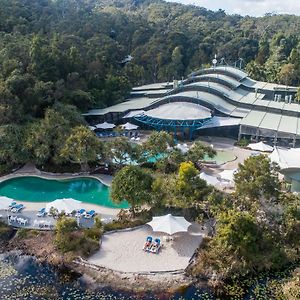
[{"label": "white pointed shade umbrella over the sandy area's two blue loungers", "polygon": [[147,223],[153,231],[165,232],[167,234],[174,234],[176,232],[187,232],[190,225],[184,217],[174,217],[171,214],[153,217],[152,221]]}]

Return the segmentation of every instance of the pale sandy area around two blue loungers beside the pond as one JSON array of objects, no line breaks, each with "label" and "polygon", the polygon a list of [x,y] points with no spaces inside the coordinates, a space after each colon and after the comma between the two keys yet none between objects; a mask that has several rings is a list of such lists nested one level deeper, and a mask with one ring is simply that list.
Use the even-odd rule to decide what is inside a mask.
[{"label": "pale sandy area around two blue loungers beside the pond", "polygon": [[[143,251],[147,236],[161,238],[163,247],[159,254]],[[148,272],[185,269],[200,245],[204,232],[199,225],[192,225],[189,233],[178,233],[173,241],[164,242],[162,233],[153,233],[145,225],[132,231],[105,234],[101,249],[89,258],[89,262],[116,271]]]}]

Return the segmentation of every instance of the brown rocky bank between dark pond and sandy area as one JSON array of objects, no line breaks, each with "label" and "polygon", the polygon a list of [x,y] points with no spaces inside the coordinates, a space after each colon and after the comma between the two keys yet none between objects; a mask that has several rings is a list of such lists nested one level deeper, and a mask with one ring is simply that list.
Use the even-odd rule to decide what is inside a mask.
[{"label": "brown rocky bank between dark pond and sandy area", "polygon": [[[23,243],[21,243],[23,241]],[[40,243],[46,247],[41,249]],[[106,267],[93,266],[82,258],[70,259],[60,254],[52,244],[50,232],[40,233],[29,239],[19,240],[13,236],[7,243],[0,247],[0,253],[20,251],[20,255],[29,255],[38,262],[47,263],[54,268],[66,269],[88,278],[88,288],[107,287],[126,292],[144,293],[155,291],[155,293],[175,293],[185,289],[192,284],[198,283],[195,278],[182,272],[162,272],[142,274],[141,272],[120,272]],[[164,283],[162,285],[162,282]],[[204,285],[204,281],[202,282]]]}]

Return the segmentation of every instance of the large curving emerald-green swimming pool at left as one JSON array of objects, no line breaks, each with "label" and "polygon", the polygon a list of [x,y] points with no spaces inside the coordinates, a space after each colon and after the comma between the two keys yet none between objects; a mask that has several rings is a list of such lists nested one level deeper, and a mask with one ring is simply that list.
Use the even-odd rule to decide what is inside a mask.
[{"label": "large curving emerald-green swimming pool at left", "polygon": [[0,183],[0,196],[28,202],[73,198],[110,208],[129,208],[126,201],[120,204],[113,203],[109,197],[109,188],[99,180],[87,177],[63,180],[35,176],[16,177]]}]

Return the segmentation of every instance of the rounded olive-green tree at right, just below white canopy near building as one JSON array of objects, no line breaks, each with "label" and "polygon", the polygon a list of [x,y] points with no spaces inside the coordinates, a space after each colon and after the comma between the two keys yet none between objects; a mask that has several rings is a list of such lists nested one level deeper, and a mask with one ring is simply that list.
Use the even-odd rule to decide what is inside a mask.
[{"label": "rounded olive-green tree at right, just below white canopy near building", "polygon": [[277,171],[278,167],[265,156],[249,157],[239,164],[239,171],[234,175],[236,197],[244,200],[243,205],[247,207],[262,197],[277,199],[280,191]]}]

